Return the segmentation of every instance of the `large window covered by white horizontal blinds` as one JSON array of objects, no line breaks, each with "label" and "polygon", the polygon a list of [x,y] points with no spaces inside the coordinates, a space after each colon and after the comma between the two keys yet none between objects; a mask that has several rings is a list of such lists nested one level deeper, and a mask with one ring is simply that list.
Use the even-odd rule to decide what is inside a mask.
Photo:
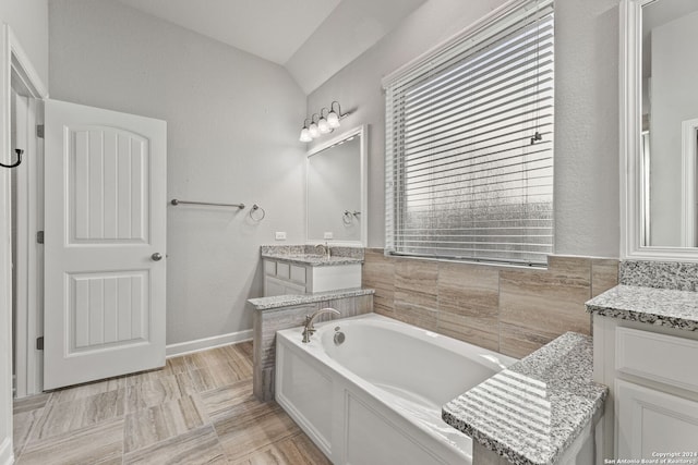
[{"label": "large window covered by white horizontal blinds", "polygon": [[553,247],[553,1],[524,1],[386,89],[386,252],[544,265]]}]

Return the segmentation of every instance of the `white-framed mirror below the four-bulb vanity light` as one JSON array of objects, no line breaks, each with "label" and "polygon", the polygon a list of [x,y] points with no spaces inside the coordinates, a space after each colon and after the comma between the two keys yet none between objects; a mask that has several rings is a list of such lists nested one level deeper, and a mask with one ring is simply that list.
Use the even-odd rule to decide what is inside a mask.
[{"label": "white-framed mirror below the four-bulb vanity light", "polygon": [[365,247],[368,126],[313,148],[306,161],[306,240]]}]

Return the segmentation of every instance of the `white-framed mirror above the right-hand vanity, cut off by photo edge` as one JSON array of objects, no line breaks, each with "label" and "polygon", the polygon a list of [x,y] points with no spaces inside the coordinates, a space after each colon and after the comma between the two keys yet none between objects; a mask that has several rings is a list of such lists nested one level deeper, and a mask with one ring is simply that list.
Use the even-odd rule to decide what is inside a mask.
[{"label": "white-framed mirror above the right-hand vanity, cut off by photo edge", "polygon": [[698,2],[621,3],[621,255],[698,261]]}]

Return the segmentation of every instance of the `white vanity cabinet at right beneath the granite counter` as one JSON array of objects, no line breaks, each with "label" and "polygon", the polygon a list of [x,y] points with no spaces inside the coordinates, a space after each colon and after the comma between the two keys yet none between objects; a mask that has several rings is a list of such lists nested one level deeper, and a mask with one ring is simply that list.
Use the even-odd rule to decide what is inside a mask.
[{"label": "white vanity cabinet at right beneath the granite counter", "polygon": [[698,334],[598,315],[593,334],[594,380],[613,400],[604,458],[698,461]]}]

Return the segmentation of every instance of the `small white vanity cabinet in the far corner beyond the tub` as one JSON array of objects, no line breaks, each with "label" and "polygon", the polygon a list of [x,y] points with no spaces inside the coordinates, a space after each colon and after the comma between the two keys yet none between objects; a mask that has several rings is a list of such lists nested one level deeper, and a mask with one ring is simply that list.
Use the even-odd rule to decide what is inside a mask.
[{"label": "small white vanity cabinet in the far corner beyond the tub", "polygon": [[361,287],[361,264],[303,265],[264,258],[264,296]]}]

